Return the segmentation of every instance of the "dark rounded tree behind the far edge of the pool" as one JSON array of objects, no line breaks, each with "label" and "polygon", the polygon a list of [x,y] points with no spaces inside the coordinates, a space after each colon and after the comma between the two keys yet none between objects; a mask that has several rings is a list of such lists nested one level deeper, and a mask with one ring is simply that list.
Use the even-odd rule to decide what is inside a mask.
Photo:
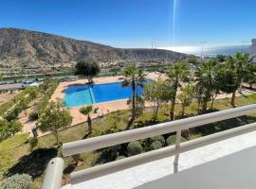
[{"label": "dark rounded tree behind the far edge of the pool", "polygon": [[80,60],[76,64],[76,75],[87,77],[88,81],[93,82],[92,78],[101,72],[100,65],[91,60]]}]

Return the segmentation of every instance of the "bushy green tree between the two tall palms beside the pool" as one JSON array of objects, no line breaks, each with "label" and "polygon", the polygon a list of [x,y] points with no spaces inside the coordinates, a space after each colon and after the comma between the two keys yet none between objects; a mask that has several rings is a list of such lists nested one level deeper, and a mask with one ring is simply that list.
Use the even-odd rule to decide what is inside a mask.
[{"label": "bushy green tree between the two tall palms beside the pool", "polygon": [[157,113],[165,102],[168,102],[170,91],[163,80],[158,78],[157,81],[152,81],[144,86],[144,98],[146,101],[153,103],[153,120],[157,118]]}]

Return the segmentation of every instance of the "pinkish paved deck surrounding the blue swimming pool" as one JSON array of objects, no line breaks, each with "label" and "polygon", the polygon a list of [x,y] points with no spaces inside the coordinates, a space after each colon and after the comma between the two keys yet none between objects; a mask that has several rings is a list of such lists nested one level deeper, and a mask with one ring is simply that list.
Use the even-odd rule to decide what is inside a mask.
[{"label": "pinkish paved deck surrounding the blue swimming pool", "polygon": [[[159,73],[147,73],[147,78],[151,78],[153,80],[156,80],[158,77],[163,77]],[[102,83],[110,83],[110,82],[120,82],[122,76],[117,76],[117,77],[96,77],[94,78],[95,84],[102,84]],[[58,98],[64,99],[64,93],[65,90],[74,85],[80,85],[87,83],[87,79],[78,79],[76,81],[64,81],[59,84],[57,89],[55,90],[54,94],[51,96],[51,100],[56,100]],[[115,100],[115,101],[108,101],[108,102],[102,102],[102,103],[97,103],[93,104],[95,108],[99,108],[98,113],[92,113],[91,117],[96,118],[98,116],[107,114],[109,112],[116,112],[116,111],[121,111],[121,110],[127,110],[129,107],[127,105],[127,99],[120,99],[120,100]],[[146,104],[146,106],[150,106],[149,103]],[[77,124],[81,124],[82,122],[86,121],[86,116],[84,116],[79,110],[81,109],[82,106],[78,107],[73,107],[69,108],[69,112],[71,113],[73,117],[73,122],[71,126],[75,126]]]}]

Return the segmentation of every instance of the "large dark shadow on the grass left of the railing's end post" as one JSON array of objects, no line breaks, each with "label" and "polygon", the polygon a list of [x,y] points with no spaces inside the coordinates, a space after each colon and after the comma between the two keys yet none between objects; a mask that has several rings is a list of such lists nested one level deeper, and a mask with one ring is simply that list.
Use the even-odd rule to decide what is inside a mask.
[{"label": "large dark shadow on the grass left of the railing's end post", "polygon": [[9,168],[5,177],[24,173],[30,175],[34,180],[45,172],[47,163],[57,154],[58,150],[56,148],[36,149],[32,153],[21,157],[18,163]]}]

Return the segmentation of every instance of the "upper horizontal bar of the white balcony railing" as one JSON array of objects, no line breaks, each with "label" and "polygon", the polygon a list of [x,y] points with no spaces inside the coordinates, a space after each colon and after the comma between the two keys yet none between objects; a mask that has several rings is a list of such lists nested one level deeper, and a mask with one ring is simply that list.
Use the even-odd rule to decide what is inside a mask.
[{"label": "upper horizontal bar of the white balcony railing", "polygon": [[131,141],[153,137],[155,135],[171,133],[177,130],[191,129],[213,122],[226,120],[232,117],[245,115],[250,112],[256,112],[256,104],[220,112],[211,112],[208,114],[202,114],[186,119],[157,124],[141,129],[131,129],[81,141],[66,143],[63,145],[63,155],[64,157],[71,156],[107,146],[115,146]]}]

